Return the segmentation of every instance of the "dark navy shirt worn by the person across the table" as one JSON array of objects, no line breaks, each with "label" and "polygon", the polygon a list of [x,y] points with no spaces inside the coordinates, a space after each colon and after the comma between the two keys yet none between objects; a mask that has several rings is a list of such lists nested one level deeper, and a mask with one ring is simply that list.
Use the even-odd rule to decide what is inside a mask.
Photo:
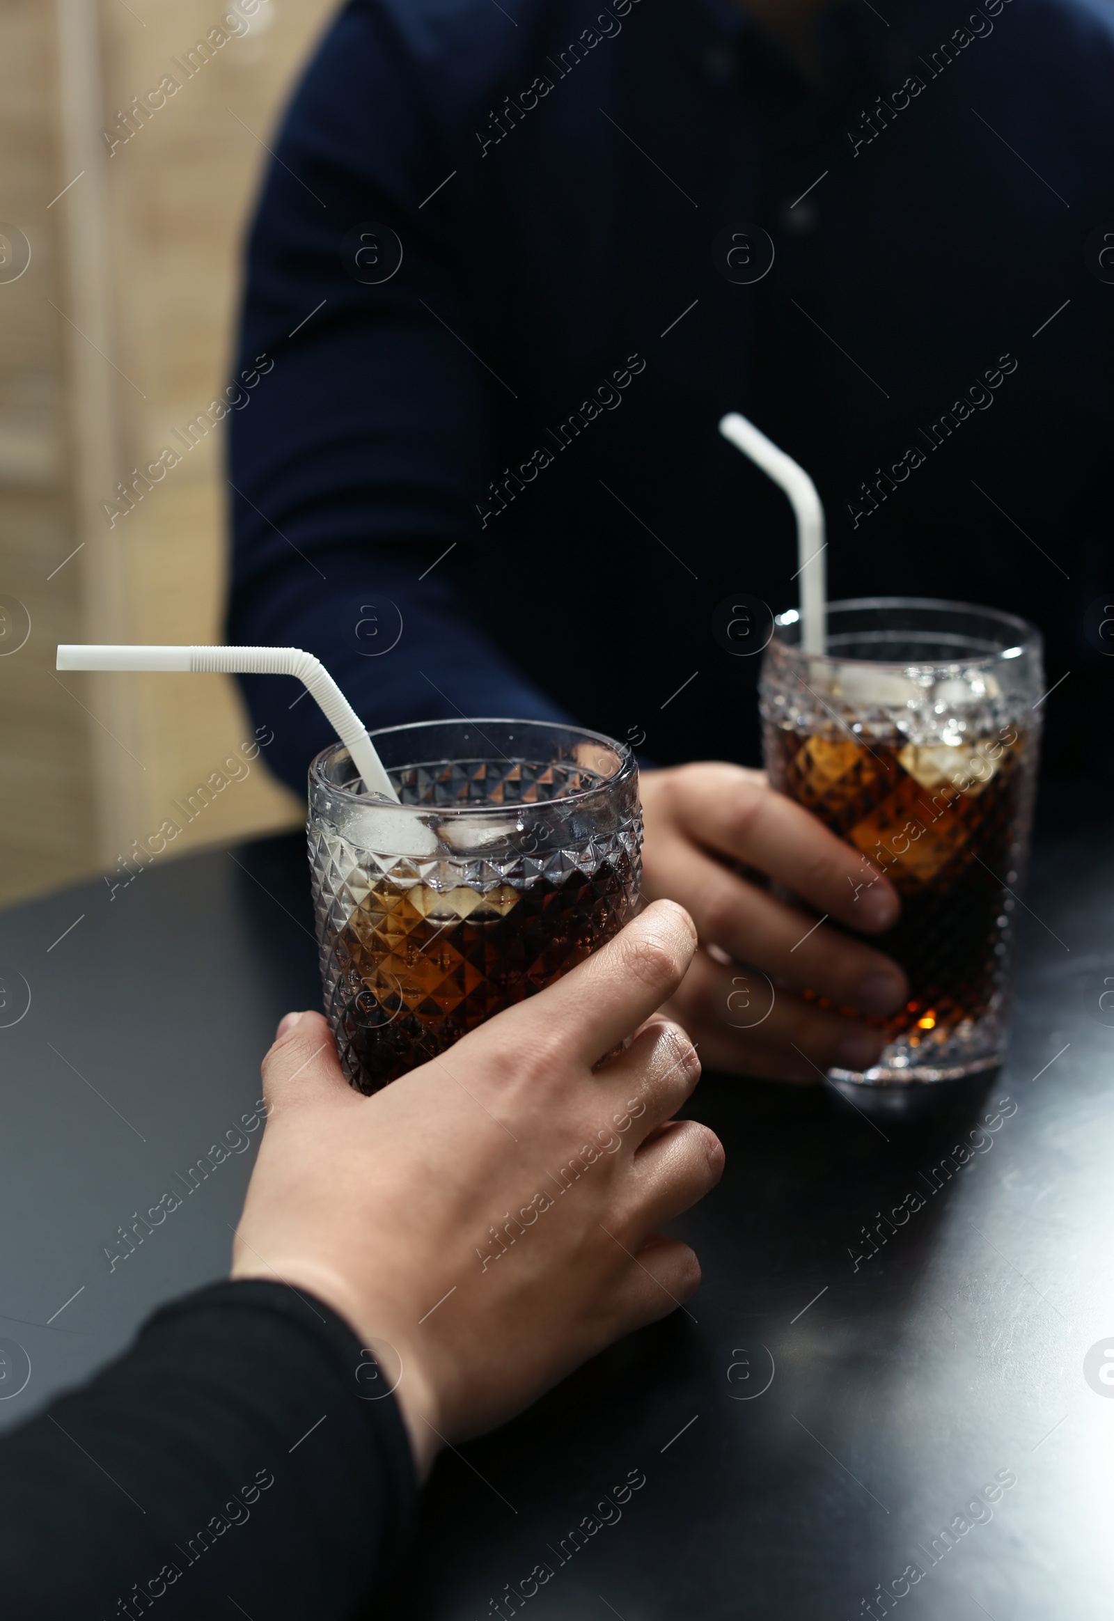
[{"label": "dark navy shirt worn by the person across the table", "polygon": [[[812,472],[832,597],[1036,619],[1052,754],[1093,739],[1114,11],[845,0],[817,41],[811,83],[728,0],[341,13],[250,238],[230,640],[313,650],[370,726],[752,760],[717,608],[798,564],[738,408]],[[328,725],[245,689],[302,788]]]}]

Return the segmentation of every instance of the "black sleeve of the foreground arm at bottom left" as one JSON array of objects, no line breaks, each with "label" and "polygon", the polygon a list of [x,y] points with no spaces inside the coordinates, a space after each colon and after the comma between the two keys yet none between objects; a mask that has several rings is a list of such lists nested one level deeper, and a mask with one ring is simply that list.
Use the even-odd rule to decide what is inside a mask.
[{"label": "black sleeve of the foreground arm at bottom left", "polygon": [[164,1307],[0,1441],[8,1613],[360,1615],[417,1496],[381,1378],[341,1318],[282,1284]]}]

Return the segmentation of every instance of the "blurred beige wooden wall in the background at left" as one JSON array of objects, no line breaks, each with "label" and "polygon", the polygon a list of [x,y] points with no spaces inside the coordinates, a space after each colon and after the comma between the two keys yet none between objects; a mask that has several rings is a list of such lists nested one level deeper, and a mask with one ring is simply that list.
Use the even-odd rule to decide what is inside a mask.
[{"label": "blurred beige wooden wall in the background at left", "polygon": [[271,131],[334,10],[0,13],[0,905],[115,872],[167,817],[185,825],[161,861],[303,819],[266,751],[193,820],[172,809],[253,738],[229,678],[54,660],[58,642],[221,640],[225,425],[209,407]]}]

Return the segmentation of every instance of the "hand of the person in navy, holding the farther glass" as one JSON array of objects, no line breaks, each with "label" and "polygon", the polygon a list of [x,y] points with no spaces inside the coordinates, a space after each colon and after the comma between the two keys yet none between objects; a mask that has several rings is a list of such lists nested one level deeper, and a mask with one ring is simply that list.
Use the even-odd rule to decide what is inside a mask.
[{"label": "hand of the person in navy, holding the farther glass", "polygon": [[[879,1031],[795,992],[814,990],[872,1015],[893,1013],[908,997],[905,974],[889,956],[824,922],[816,927],[827,914],[868,934],[889,929],[900,901],[877,867],[773,793],[762,772],[704,762],[645,772],[641,786],[642,892],[686,906],[701,939],[665,1012],[689,1031],[704,1065],[817,1081],[829,1065],[874,1063],[885,1046]],[[748,883],[735,864],[778,880],[816,913]],[[769,986],[746,968],[769,976],[772,1007]]]}]

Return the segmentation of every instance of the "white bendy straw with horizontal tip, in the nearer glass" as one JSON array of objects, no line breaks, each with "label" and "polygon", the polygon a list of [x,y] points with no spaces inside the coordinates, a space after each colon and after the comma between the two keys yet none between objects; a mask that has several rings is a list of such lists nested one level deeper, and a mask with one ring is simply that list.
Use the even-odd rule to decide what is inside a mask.
[{"label": "white bendy straw with horizontal tip, in the nearer glass", "polygon": [[126,647],[63,642],[57,669],[180,669],[201,674],[297,676],[324,712],[370,794],[399,804],[366,726],[329,671],[300,647]]}]

